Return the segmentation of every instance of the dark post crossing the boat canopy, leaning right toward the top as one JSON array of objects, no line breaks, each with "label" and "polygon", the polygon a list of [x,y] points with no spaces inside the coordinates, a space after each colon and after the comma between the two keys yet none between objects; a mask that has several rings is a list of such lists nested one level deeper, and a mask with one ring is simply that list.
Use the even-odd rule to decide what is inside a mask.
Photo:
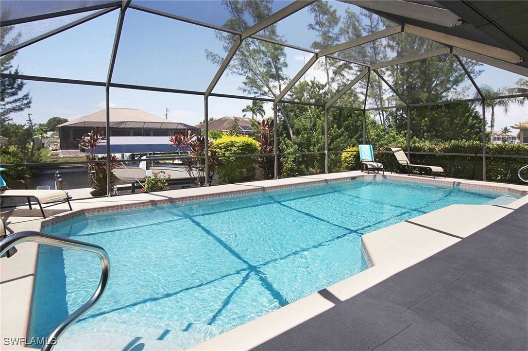
[{"label": "dark post crossing the boat canopy, leaning right toward the top", "polygon": [[106,78],[106,188],[107,196],[111,194],[111,173],[110,173],[110,82],[112,81],[112,74],[114,73],[114,66],[116,64],[117,48],[119,47],[119,40],[121,39],[121,30],[123,29],[123,22],[125,21],[125,13],[130,5],[131,0],[122,2],[121,10],[119,11],[119,19],[117,20],[116,35],[114,37],[114,45],[112,47],[112,56],[110,57],[110,64],[108,66],[108,75]]}]

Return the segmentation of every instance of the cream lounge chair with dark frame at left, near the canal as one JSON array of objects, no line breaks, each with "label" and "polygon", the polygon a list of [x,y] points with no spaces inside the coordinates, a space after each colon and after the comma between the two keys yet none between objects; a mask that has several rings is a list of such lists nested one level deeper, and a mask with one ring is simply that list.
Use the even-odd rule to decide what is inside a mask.
[{"label": "cream lounge chair with dark frame at left, near the canal", "polygon": [[[25,189],[9,189],[7,187],[7,184],[14,183],[14,182],[21,182]],[[36,190],[36,189],[27,189],[27,184],[23,180],[16,180],[13,182],[6,183],[4,179],[2,179],[2,176],[0,175],[0,184],[3,184],[2,187],[0,187],[0,197],[1,198],[7,198],[7,197],[22,197],[27,199],[27,205],[29,205],[30,209],[33,209],[31,207],[31,198],[35,198],[37,201],[37,204],[39,205],[40,212],[42,213],[42,217],[46,218],[46,215],[44,214],[44,208],[51,207],[59,204],[64,204],[65,202],[68,202],[68,206],[70,207],[70,211],[72,210],[71,204],[70,204],[70,198],[68,196],[68,193],[64,190]],[[42,207],[43,204],[50,204],[49,206]]]}]

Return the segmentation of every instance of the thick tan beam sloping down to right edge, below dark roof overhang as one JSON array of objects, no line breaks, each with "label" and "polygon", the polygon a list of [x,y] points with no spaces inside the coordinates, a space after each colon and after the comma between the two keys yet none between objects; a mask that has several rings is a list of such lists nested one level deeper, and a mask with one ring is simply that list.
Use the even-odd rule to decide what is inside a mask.
[{"label": "thick tan beam sloping down to right edge, below dark roof overhang", "polygon": [[483,54],[492,57],[497,60],[502,60],[510,63],[517,63],[523,60],[522,57],[518,56],[515,52],[505,50],[492,45],[482,44],[473,40],[459,38],[458,36],[449,35],[437,31],[431,31],[415,25],[406,24],[403,27],[403,31],[409,34],[421,36],[434,40],[436,42],[449,45],[450,47],[457,47],[479,54]]}]

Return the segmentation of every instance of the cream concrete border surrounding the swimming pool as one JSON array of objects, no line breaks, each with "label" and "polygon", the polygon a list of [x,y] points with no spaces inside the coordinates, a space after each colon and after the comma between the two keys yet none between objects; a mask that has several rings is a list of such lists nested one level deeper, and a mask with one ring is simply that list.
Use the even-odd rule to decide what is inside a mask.
[{"label": "cream concrete border surrounding the swimming pool", "polygon": [[[286,189],[307,185],[346,181],[359,178],[386,178],[428,184],[444,184],[467,190],[496,190],[525,195],[507,206],[451,205],[411,220],[385,227],[362,237],[365,256],[373,265],[359,274],[338,282],[325,290],[340,301],[349,299],[407,267],[459,242],[477,230],[528,203],[528,186],[472,181],[463,179],[432,179],[409,177],[407,174],[370,174],[360,171],[309,175],[297,178],[225,184],[209,188],[189,188],[155,193],[138,193],[112,198],[72,201],[73,211],[56,206],[46,211],[49,218],[38,218],[35,210],[10,209],[6,224],[13,232],[41,230],[83,215],[167,205],[176,202],[243,195],[263,190]],[[448,218],[449,220],[446,220]],[[456,230],[454,230],[456,228]],[[456,233],[456,234],[454,234]],[[0,294],[2,294],[2,327],[4,336],[24,337],[30,320],[33,278],[37,259],[37,245],[25,243],[17,246],[17,255],[9,264],[2,261]],[[9,265],[9,269],[7,267]],[[335,304],[323,293],[309,295],[268,315],[257,318],[224,334],[216,336],[192,349],[248,349],[322,313]],[[9,321],[9,322],[6,322]],[[6,348],[6,349],[16,349]],[[20,346],[18,347],[20,349]]]}]

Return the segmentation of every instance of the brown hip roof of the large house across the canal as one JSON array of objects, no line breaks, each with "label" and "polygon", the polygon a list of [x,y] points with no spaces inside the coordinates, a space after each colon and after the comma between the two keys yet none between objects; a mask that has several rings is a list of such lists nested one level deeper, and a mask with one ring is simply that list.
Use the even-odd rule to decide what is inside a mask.
[{"label": "brown hip roof of the large house across the canal", "polygon": [[[57,127],[106,127],[106,109],[82,116]],[[137,108],[110,107],[111,128],[159,128],[159,129],[196,129],[192,125],[168,121]]]}]

